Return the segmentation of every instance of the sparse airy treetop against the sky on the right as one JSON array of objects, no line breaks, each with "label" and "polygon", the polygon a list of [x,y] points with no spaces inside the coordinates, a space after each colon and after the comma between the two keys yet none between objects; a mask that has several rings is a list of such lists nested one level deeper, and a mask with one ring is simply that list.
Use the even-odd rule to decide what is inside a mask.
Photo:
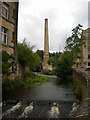
[{"label": "sparse airy treetop against the sky on the right", "polygon": [[85,44],[86,37],[83,35],[82,25],[78,24],[73,30],[72,35],[66,39],[66,51],[71,51],[73,59],[76,59],[81,47]]}]

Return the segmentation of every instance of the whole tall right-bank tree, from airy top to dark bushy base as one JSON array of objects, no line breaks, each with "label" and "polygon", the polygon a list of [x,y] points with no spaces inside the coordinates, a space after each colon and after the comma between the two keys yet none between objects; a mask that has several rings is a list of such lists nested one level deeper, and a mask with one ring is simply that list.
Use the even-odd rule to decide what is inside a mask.
[{"label": "whole tall right-bank tree, from airy top to dark bushy base", "polygon": [[57,75],[64,81],[72,78],[72,66],[77,57],[80,57],[79,54],[85,39],[86,37],[83,35],[82,25],[80,24],[72,30],[72,35],[66,39],[65,52],[61,55],[56,67]]}]

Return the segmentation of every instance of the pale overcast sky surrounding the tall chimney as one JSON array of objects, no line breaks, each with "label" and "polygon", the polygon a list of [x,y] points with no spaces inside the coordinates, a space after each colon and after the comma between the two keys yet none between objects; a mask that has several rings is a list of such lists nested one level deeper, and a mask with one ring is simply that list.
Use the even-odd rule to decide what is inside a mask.
[{"label": "pale overcast sky surrounding the tall chimney", "polygon": [[44,49],[44,22],[48,19],[49,51],[63,51],[65,40],[78,24],[88,28],[89,0],[19,0],[18,42]]}]

